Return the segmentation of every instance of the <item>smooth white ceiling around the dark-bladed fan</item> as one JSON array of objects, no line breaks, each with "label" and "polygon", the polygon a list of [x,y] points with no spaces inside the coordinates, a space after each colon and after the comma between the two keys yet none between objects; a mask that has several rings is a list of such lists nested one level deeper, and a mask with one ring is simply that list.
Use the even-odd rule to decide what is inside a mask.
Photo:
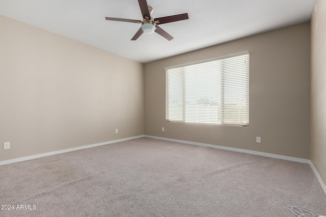
[{"label": "smooth white ceiling around the dark-bladed fan", "polygon": [[[101,49],[148,63],[297,23],[309,21],[315,0],[147,0],[152,16],[188,13],[161,24],[174,37],[143,34],[130,39],[142,20],[137,0],[0,0],[0,14]],[[0,26],[1,29],[1,26]],[[0,32],[1,34],[1,32]]]}]

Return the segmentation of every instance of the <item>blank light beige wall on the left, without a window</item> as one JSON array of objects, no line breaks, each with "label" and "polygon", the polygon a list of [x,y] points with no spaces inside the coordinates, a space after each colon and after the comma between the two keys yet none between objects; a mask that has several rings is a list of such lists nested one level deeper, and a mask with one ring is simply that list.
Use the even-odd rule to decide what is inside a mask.
[{"label": "blank light beige wall on the left, without a window", "polygon": [[0,29],[0,161],[144,134],[143,64],[3,16]]}]

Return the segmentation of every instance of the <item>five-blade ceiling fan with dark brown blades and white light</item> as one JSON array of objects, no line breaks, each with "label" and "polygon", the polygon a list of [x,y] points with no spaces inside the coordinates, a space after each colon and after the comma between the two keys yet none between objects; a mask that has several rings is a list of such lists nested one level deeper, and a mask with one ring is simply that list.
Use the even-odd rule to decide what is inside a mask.
[{"label": "five-blade ceiling fan with dark brown blades and white light", "polygon": [[106,20],[142,23],[142,27],[132,37],[131,40],[137,40],[143,33],[151,34],[153,32],[156,32],[157,34],[159,34],[162,37],[166,38],[167,40],[171,41],[173,39],[173,37],[170,34],[168,34],[167,32],[165,32],[165,30],[163,30],[158,25],[188,19],[187,13],[177,14],[177,15],[172,15],[172,16],[167,16],[167,17],[159,17],[159,18],[153,19],[153,17],[151,17],[153,8],[150,6],[148,7],[146,0],[138,0],[138,3],[139,3],[139,7],[141,8],[142,15],[143,15],[143,21],[132,20],[132,19],[123,19],[123,18],[114,18],[114,17],[105,17]]}]

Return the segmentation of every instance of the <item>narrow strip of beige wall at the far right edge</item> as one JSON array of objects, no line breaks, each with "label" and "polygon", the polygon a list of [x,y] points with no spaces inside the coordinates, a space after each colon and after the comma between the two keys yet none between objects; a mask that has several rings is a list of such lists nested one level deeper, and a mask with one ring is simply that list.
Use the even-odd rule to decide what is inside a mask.
[{"label": "narrow strip of beige wall at the far right edge", "polygon": [[326,1],[311,17],[311,162],[326,183]]}]

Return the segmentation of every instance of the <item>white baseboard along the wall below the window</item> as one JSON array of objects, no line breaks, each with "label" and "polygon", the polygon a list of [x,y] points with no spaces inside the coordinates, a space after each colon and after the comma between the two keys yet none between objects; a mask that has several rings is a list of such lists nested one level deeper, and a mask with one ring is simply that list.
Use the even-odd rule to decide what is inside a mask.
[{"label": "white baseboard along the wall below the window", "polygon": [[229,151],[237,151],[237,152],[242,152],[242,153],[251,153],[251,154],[255,154],[255,155],[259,155],[259,156],[264,156],[264,157],[269,157],[269,158],[277,158],[277,159],[294,161],[294,162],[305,163],[305,164],[310,163],[310,160],[307,160],[307,159],[287,157],[287,156],[282,156],[279,154],[265,153],[265,152],[260,152],[260,151],[252,151],[252,150],[246,150],[246,149],[240,149],[240,148],[231,148],[231,147],[226,147],[226,146],[211,145],[211,144],[199,143],[199,142],[190,142],[190,141],[184,141],[184,140],[178,140],[178,139],[169,139],[169,138],[157,137],[157,136],[145,135],[145,137],[153,138],[153,139],[167,140],[167,141],[172,141],[172,142],[186,143],[186,144],[190,144],[190,145],[212,147],[212,148],[218,148],[218,149],[229,150]]}]

